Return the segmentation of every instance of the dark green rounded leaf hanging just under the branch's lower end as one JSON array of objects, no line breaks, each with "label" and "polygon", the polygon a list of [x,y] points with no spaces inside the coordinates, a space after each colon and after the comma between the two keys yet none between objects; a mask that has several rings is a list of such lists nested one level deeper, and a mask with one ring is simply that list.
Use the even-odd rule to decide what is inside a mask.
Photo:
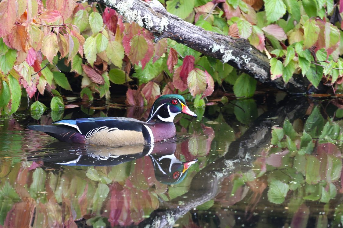
[{"label": "dark green rounded leaf hanging just under the branch's lower end", "polygon": [[256,90],[257,81],[255,78],[242,73],[235,82],[234,93],[237,97],[252,97]]}]

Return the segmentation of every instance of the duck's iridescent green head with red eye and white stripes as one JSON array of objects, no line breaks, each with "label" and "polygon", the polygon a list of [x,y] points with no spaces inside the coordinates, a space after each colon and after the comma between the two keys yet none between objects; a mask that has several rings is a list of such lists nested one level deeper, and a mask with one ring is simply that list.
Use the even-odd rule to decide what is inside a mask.
[{"label": "duck's iridescent green head with red eye and white stripes", "polygon": [[155,100],[146,122],[153,120],[173,122],[174,117],[179,113],[197,118],[197,115],[189,110],[184,97],[178,94],[163,95]]}]

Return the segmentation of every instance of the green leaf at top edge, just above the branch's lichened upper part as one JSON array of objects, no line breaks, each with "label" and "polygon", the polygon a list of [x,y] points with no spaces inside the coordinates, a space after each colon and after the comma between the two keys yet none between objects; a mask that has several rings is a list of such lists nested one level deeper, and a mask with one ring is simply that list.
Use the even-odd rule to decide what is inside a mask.
[{"label": "green leaf at top edge, just above the branch's lichened upper part", "polygon": [[194,0],[170,0],[167,1],[167,11],[181,19],[186,17],[193,11]]}]

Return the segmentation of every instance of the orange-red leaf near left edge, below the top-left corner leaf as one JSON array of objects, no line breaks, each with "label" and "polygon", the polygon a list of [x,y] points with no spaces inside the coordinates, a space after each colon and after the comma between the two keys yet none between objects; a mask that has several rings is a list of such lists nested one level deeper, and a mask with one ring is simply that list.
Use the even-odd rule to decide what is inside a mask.
[{"label": "orange-red leaf near left edge, below the top-left corner leaf", "polygon": [[13,48],[18,51],[27,51],[28,32],[23,25],[16,25],[11,30],[8,40]]}]

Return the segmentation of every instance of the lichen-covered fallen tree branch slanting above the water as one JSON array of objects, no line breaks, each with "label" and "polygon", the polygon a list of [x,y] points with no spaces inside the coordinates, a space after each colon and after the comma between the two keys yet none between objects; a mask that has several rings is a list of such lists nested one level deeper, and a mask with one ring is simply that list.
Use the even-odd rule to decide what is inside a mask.
[{"label": "lichen-covered fallen tree branch slanting above the water", "polygon": [[258,81],[288,93],[314,92],[304,77],[292,78],[285,85],[282,78],[270,79],[268,58],[245,39],[237,39],[206,31],[183,21],[166,11],[157,0],[146,3],[141,0],[88,0],[115,9],[127,23],[135,22],[154,33],[156,40],[169,38],[190,48],[228,63],[248,73]]}]

